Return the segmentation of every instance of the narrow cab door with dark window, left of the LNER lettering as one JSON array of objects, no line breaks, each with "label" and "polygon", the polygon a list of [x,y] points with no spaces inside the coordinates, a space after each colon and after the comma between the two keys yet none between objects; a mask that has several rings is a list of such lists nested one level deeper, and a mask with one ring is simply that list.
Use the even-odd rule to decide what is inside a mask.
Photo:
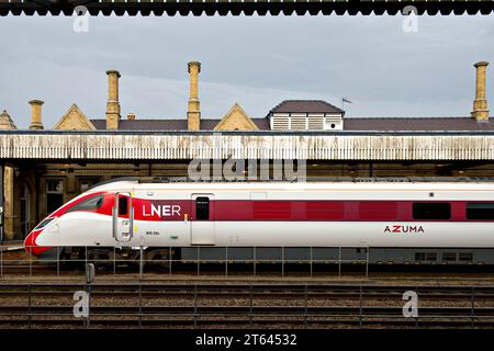
[{"label": "narrow cab door with dark window, left of the LNER lettering", "polygon": [[119,192],[113,205],[113,238],[119,242],[127,242],[134,236],[134,207],[132,194]]}]

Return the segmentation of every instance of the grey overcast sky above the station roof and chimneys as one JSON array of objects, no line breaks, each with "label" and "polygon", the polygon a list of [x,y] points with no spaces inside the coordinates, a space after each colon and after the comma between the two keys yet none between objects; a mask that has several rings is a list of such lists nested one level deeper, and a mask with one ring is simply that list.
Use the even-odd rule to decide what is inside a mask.
[{"label": "grey overcast sky above the station roof and chimneys", "polygon": [[[491,61],[494,111],[494,21],[490,16],[419,16],[405,33],[402,16],[0,19],[0,110],[18,127],[31,99],[45,101],[53,127],[72,103],[104,118],[108,69],[121,72],[122,116],[181,118],[187,63],[202,63],[202,116],[221,118],[238,102],[261,117],[285,99],[323,99],[347,116],[461,116],[474,99],[473,64]],[[494,113],[491,113],[494,114]]]}]

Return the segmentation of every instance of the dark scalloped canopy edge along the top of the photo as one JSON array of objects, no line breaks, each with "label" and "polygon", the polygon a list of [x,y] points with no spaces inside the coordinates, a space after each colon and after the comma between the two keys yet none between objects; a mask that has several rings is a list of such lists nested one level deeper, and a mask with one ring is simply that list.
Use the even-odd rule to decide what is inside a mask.
[{"label": "dark scalloped canopy edge along the top of the photo", "polygon": [[304,14],[491,14],[492,0],[0,0],[0,15],[304,15]]}]

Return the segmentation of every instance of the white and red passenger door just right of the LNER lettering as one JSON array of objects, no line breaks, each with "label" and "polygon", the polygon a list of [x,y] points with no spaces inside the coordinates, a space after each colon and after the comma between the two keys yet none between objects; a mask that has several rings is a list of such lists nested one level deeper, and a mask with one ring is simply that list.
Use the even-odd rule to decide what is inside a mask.
[{"label": "white and red passenger door just right of the LNER lettering", "polygon": [[213,195],[192,194],[192,218],[190,220],[190,235],[192,245],[215,245],[213,219]]}]

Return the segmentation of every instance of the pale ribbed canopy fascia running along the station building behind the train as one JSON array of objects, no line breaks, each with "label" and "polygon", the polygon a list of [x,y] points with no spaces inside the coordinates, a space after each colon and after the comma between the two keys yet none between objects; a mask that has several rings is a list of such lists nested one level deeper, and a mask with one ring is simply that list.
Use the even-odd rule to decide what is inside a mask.
[{"label": "pale ribbed canopy fascia running along the station building behind the train", "polygon": [[0,132],[0,160],[494,160],[493,132]]}]

